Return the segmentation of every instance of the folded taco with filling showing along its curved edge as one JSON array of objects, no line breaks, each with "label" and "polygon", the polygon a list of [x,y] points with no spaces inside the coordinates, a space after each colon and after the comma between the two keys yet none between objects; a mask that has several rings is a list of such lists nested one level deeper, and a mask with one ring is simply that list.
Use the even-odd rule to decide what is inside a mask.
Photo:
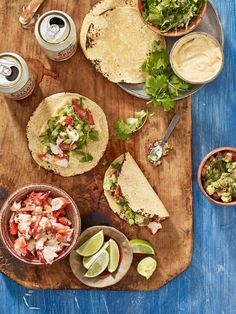
[{"label": "folded taco with filling showing along its curved edge", "polygon": [[169,214],[143,172],[129,153],[118,157],[104,177],[109,206],[129,225],[147,226],[153,234]]}]

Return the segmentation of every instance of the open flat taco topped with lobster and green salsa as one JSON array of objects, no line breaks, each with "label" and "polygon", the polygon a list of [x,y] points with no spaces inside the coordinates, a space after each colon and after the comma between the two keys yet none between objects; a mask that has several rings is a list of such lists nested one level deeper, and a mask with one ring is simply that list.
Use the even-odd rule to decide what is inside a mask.
[{"label": "open flat taco topped with lobster and green salsa", "polygon": [[74,93],[45,98],[27,126],[29,149],[39,166],[64,177],[94,168],[106,150],[108,125],[103,110]]}]

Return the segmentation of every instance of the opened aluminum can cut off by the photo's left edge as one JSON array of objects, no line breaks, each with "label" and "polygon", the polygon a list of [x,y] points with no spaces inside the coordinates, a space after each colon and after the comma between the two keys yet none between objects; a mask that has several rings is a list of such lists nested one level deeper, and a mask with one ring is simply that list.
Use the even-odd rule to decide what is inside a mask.
[{"label": "opened aluminum can cut off by the photo's left edge", "polygon": [[30,96],[35,80],[25,60],[16,53],[0,54],[0,93],[14,100]]}]

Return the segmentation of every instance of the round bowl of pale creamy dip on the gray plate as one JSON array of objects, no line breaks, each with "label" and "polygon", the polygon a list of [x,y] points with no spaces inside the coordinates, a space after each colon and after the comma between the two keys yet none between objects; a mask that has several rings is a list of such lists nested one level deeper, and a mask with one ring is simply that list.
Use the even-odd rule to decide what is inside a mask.
[{"label": "round bowl of pale creamy dip on the gray plate", "polygon": [[211,35],[194,32],[179,39],[172,47],[170,63],[177,76],[191,84],[213,81],[224,65],[220,43]]}]

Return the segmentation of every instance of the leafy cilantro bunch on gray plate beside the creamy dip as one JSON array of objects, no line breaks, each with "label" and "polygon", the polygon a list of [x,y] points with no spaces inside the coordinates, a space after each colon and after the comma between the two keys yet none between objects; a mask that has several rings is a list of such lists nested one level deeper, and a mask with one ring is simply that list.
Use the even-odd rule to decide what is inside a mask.
[{"label": "leafy cilantro bunch on gray plate beside the creamy dip", "polygon": [[161,48],[160,42],[156,40],[141,69],[147,74],[146,93],[152,97],[154,106],[162,106],[164,111],[171,111],[175,106],[173,98],[189,89],[189,84],[175,75],[170,67],[167,50]]}]

